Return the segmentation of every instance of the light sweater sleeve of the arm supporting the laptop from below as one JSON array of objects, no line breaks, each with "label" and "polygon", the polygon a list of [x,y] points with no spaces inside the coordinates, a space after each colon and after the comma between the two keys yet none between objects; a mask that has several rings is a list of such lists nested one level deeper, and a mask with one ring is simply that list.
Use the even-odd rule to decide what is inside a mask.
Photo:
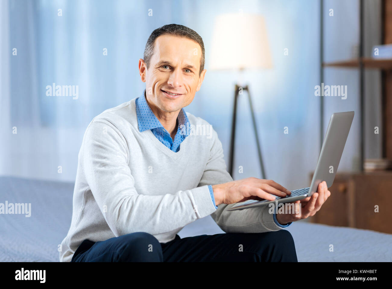
[{"label": "light sweater sleeve of the arm supporting the laptop from below", "polygon": [[[212,135],[214,141],[212,143],[210,159],[205,167],[199,186],[217,185],[233,181],[226,170],[226,163],[223,159],[223,148],[218,139],[218,134],[215,130],[212,130]],[[269,207],[227,211],[237,204],[219,204],[218,209],[211,214],[212,219],[214,219],[224,232],[261,233],[282,229],[282,227],[275,223],[273,214],[269,213]]]}]

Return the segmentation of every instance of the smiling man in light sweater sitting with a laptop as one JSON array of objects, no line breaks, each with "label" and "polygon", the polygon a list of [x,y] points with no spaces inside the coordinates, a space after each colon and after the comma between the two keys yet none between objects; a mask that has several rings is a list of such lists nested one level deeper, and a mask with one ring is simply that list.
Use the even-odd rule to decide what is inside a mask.
[{"label": "smiling man in light sweater sitting with a laptop", "polygon": [[[330,192],[321,183],[297,215],[268,207],[227,211],[290,191],[272,180],[233,181],[216,132],[184,112],[203,82],[204,55],[203,40],[188,27],[152,32],[139,60],[146,89],[94,117],[83,136],[61,262],[297,262],[292,236],[281,229],[313,216]],[[210,130],[188,134],[189,127]],[[177,235],[208,215],[226,234]]]}]

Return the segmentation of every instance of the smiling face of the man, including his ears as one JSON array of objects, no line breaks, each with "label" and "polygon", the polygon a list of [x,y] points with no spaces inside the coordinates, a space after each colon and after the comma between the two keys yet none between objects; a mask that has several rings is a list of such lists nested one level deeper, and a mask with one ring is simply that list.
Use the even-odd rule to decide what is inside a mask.
[{"label": "smiling face of the man, including his ears", "polygon": [[[139,60],[147,100],[164,112],[176,112],[189,105],[200,90],[206,72],[203,70],[199,77],[200,59],[200,45],[190,39],[172,35],[156,38],[150,68],[147,70],[144,60]],[[172,96],[164,91],[180,95]]]}]

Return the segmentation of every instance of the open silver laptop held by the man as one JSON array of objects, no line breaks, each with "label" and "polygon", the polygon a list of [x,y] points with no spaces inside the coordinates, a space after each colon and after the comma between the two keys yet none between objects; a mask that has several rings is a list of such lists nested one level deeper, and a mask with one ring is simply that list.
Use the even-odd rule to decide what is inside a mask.
[{"label": "open silver laptop held by the man", "polygon": [[326,181],[328,188],[332,186],[353,118],[354,112],[337,112],[331,115],[323,145],[321,146],[316,170],[314,171],[309,188],[293,190],[291,191],[291,195],[286,197],[276,196],[276,199],[273,201],[248,200],[238,203],[238,205],[231,207],[228,211],[267,206],[270,203],[276,204],[276,201],[279,204],[292,203],[305,199],[312,196],[314,192],[317,192],[318,185],[322,181]]}]

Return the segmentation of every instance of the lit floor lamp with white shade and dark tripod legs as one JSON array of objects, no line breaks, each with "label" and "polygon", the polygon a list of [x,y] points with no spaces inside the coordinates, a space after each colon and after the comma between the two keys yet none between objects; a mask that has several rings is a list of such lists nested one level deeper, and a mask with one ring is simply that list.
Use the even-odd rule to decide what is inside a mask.
[{"label": "lit floor lamp with white shade and dark tripod legs", "polygon": [[[247,69],[272,68],[264,18],[261,15],[245,13],[229,13],[217,16],[214,24],[210,57],[210,70],[234,70],[242,73],[242,71]],[[253,131],[256,138],[261,168],[261,177],[266,179],[267,176],[265,174],[260,139],[258,137],[256,118],[253,111],[249,87],[248,85],[241,85],[239,83],[235,84],[234,92],[229,173],[233,176],[237,102],[240,97],[240,90],[246,91],[248,95],[250,115],[252,117]]]}]

